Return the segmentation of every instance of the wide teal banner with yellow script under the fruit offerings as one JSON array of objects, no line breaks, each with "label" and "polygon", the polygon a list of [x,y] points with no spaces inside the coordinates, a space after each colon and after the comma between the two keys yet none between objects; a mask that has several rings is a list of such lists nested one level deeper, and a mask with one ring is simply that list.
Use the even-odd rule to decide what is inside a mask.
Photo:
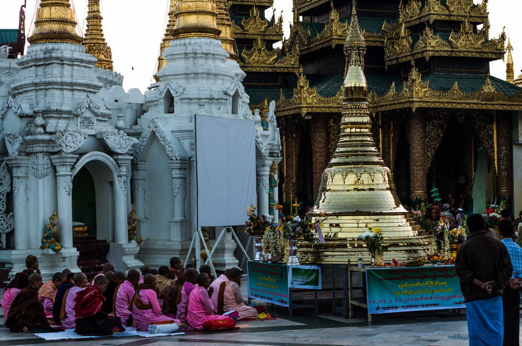
[{"label": "wide teal banner with yellow script under the fruit offerings", "polygon": [[369,314],[466,307],[455,266],[366,269]]}]

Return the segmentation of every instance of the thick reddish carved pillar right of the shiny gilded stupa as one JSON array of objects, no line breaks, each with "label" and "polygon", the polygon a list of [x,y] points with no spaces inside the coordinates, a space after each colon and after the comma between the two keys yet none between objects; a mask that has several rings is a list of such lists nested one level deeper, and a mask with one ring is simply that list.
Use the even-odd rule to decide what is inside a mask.
[{"label": "thick reddish carved pillar right of the shiny gilded stupa", "polygon": [[426,114],[410,113],[410,197],[412,206],[426,201]]}]

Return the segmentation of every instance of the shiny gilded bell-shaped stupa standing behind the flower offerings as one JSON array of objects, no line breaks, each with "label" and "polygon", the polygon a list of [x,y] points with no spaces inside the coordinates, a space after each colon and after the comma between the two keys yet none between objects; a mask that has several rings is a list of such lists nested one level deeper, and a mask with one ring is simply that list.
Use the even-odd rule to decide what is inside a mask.
[{"label": "shiny gilded bell-shaped stupa standing behind the flower offerings", "polygon": [[337,149],[323,172],[319,195],[307,216],[325,219],[325,243],[300,244],[302,263],[354,264],[362,252],[363,262],[371,255],[359,238],[369,226],[379,227],[389,250],[385,262],[420,257],[424,238],[395,192],[392,172],[376,150],[368,110],[368,87],[363,72],[366,44],[359,28],[355,1],[348,37],[343,82],[341,133]]}]

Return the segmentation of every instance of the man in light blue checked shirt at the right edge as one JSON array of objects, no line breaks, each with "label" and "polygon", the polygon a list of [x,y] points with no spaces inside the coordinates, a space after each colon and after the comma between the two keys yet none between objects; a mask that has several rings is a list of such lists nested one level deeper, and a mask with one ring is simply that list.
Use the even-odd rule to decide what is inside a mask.
[{"label": "man in light blue checked shirt at the right edge", "polygon": [[507,281],[502,294],[502,307],[504,310],[504,346],[518,346],[520,331],[520,281],[522,281],[522,249],[513,241],[513,223],[509,218],[499,222],[499,239],[506,246],[513,274]]}]

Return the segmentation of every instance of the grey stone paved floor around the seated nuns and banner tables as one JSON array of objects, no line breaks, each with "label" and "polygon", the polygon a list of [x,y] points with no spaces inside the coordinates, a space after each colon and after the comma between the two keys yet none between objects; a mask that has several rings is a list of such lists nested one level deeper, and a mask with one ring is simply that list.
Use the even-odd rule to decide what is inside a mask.
[{"label": "grey stone paved floor around the seated nuns and banner tables", "polygon": [[[246,297],[246,289],[243,291]],[[74,343],[76,346],[141,346],[146,344],[153,344],[153,346],[468,345],[466,340],[452,340],[457,335],[467,336],[465,309],[461,310],[461,313],[440,310],[374,315],[373,322],[368,323],[365,311],[362,309],[355,312],[353,319],[345,319],[342,316],[332,316],[330,304],[330,301],[323,302],[318,316],[314,315],[313,308],[294,311],[294,316],[289,317],[288,310],[282,307],[268,307],[267,311],[276,316],[276,320],[240,321],[238,324],[251,327],[243,327],[233,332],[188,331],[186,335],[148,339],[110,337],[46,341],[32,334],[9,332],[4,326],[3,316],[0,315],[0,345],[56,344],[64,346],[64,343]]]}]

